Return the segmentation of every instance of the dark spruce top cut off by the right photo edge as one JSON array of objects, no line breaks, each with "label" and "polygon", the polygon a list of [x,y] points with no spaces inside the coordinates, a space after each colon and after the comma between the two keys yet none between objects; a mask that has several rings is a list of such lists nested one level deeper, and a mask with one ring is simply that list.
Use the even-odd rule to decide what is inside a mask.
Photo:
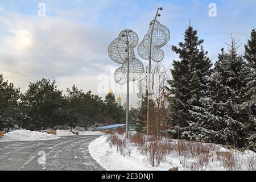
[{"label": "dark spruce top cut off by the right photo edge", "polygon": [[248,61],[250,67],[256,69],[256,30],[251,31],[251,39],[245,45],[245,59]]}]

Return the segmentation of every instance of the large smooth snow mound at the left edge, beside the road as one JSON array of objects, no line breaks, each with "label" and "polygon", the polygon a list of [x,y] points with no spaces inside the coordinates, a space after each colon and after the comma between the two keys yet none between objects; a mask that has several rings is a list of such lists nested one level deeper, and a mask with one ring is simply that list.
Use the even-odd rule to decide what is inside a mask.
[{"label": "large smooth snow mound at the left edge, beside the road", "polygon": [[0,142],[15,141],[15,140],[52,140],[58,139],[56,135],[40,133],[39,131],[15,130],[0,137]]}]

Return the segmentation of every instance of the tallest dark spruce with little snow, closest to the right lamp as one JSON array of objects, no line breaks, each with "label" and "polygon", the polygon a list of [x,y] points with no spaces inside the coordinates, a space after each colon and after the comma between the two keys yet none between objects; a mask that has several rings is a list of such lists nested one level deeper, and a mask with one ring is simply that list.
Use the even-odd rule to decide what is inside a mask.
[{"label": "tallest dark spruce with little snow, closest to the right lamp", "polygon": [[184,34],[184,43],[179,47],[172,46],[172,51],[179,55],[179,61],[174,61],[172,80],[168,81],[171,98],[171,116],[169,119],[172,129],[170,134],[178,138],[182,134],[187,138],[189,125],[196,122],[189,110],[200,107],[201,98],[205,97],[207,77],[210,76],[212,63],[203,49],[203,39],[199,39],[197,31],[188,26]]}]

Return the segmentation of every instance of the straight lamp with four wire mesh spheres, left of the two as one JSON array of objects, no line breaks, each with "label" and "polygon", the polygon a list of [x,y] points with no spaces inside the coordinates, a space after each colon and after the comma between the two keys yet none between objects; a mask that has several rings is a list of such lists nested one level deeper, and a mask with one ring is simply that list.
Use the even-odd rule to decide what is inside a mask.
[{"label": "straight lamp with four wire mesh spheres, left of the two", "polygon": [[115,63],[122,64],[114,73],[114,80],[119,85],[127,84],[126,93],[126,138],[129,132],[129,82],[139,80],[144,68],[141,61],[135,58],[134,48],[138,45],[138,35],[132,30],[123,30],[108,48],[109,57]]}]

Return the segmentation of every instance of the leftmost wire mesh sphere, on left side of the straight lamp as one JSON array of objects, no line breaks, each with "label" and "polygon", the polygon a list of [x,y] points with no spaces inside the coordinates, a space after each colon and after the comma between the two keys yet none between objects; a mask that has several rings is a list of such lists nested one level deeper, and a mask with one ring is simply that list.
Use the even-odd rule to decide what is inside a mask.
[{"label": "leftmost wire mesh sphere, on left side of the straight lamp", "polygon": [[[126,61],[126,57],[128,55],[127,45],[120,39],[113,40],[110,43],[108,48],[108,53],[110,59],[115,61],[115,63],[123,64]],[[133,49],[129,49],[130,57],[135,57]]]}]

